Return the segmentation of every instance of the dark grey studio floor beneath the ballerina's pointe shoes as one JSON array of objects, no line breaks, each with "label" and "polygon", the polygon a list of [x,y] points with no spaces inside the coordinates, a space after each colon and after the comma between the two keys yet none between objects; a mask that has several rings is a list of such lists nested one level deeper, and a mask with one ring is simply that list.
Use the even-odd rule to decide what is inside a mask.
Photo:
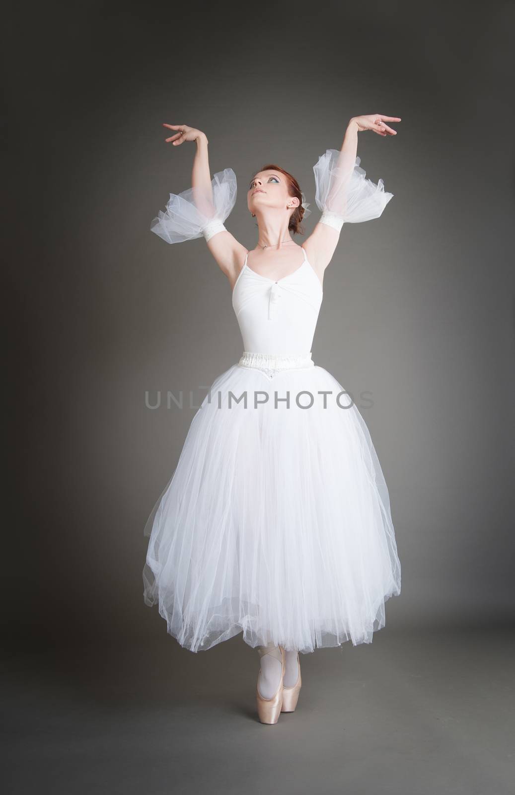
[{"label": "dark grey studio floor beneath the ballerina's pointe shoes", "polygon": [[296,712],[259,723],[258,654],[153,642],[4,656],[18,793],[513,795],[511,626],[393,631],[300,656]]}]

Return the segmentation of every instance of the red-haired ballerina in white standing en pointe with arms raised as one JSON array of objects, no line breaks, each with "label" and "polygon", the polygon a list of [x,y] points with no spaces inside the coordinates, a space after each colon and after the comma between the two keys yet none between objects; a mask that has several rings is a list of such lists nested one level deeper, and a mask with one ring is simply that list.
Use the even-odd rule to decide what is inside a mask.
[{"label": "red-haired ballerina in white standing en pointe with arms raised", "polygon": [[342,148],[314,166],[321,217],[302,246],[307,203],[296,179],[268,164],[246,186],[258,242],[224,222],[232,169],[211,180],[207,136],[187,125],[167,142],[196,143],[192,188],[170,194],[152,231],[168,243],[203,236],[225,273],[242,333],[238,363],[193,417],[172,479],[147,522],[145,603],[193,652],[242,633],[258,650],[261,723],[292,712],[300,653],[370,643],[401,564],[381,466],[343,386],[312,360],[323,275],[343,223],[378,218],[393,194],[367,180],[358,133],[394,135],[371,114],[350,119]]}]

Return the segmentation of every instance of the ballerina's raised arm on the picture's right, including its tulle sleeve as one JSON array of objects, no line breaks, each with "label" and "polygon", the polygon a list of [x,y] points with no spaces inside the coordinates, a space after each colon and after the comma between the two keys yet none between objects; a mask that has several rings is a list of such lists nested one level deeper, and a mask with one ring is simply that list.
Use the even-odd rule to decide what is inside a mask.
[{"label": "ballerina's raised arm on the picture's right, including its tulle sleeve", "polygon": [[331,262],[343,223],[358,223],[378,218],[393,193],[385,193],[384,184],[365,179],[357,157],[358,133],[374,130],[385,137],[397,135],[385,122],[400,122],[397,116],[370,114],[354,116],[347,125],[341,149],[327,149],[313,167],[316,180],[316,204],[322,211],[319,223],[304,242],[309,262],[320,280]]}]

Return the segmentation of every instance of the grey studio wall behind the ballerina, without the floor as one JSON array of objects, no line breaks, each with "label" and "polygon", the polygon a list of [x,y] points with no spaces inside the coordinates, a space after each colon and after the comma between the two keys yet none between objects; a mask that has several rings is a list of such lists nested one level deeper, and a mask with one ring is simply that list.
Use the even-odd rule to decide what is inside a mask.
[{"label": "grey studio wall behind the ballerina, without the floor", "polygon": [[296,175],[309,234],[313,165],[373,112],[402,118],[397,137],[358,142],[394,196],[343,227],[313,358],[374,400],[362,415],[403,567],[382,632],[513,619],[513,6],[87,3],[34,8],[29,28],[21,14],[4,638],[165,634],[142,602],[142,533],[196,409],[148,409],[145,390],[198,405],[242,343],[203,239],[149,231],[191,184],[194,146],[165,145],[162,122],[198,126],[211,173],[234,169],[227,226],[254,247],[253,170]]}]

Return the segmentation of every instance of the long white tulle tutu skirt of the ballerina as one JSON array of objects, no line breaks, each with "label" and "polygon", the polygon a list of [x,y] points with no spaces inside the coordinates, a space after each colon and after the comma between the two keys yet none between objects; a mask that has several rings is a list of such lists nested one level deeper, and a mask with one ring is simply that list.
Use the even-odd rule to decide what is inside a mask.
[{"label": "long white tulle tutu skirt of the ballerina", "polygon": [[269,378],[235,364],[215,379],[145,528],[145,603],[181,646],[242,632],[308,653],[385,625],[401,592],[389,494],[342,392],[319,366]]}]

